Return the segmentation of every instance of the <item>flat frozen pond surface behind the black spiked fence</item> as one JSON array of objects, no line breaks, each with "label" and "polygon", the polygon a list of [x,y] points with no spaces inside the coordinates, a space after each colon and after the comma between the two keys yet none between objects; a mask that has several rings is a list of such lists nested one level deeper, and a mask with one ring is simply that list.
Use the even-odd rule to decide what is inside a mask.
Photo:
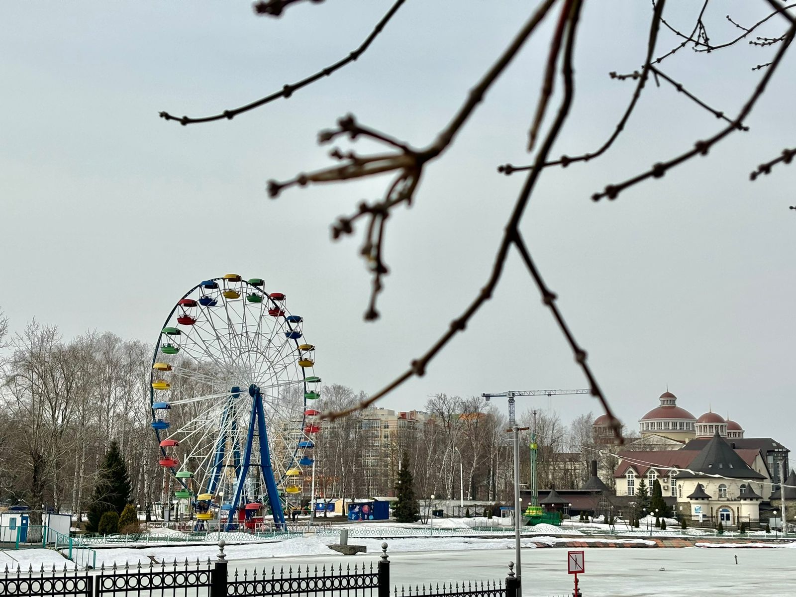
[{"label": "flat frozen pond surface behind the black spiked fence", "polygon": [[[436,541],[436,540],[434,540]],[[303,556],[230,562],[249,567],[300,563],[375,562],[365,556]],[[751,548],[585,548],[586,573],[579,576],[583,597],[631,595],[796,595],[796,549]],[[522,550],[525,597],[571,595],[566,548]],[[734,556],[738,556],[738,564]],[[390,554],[392,584],[503,578],[511,549]],[[660,570],[665,568],[665,570]]]}]

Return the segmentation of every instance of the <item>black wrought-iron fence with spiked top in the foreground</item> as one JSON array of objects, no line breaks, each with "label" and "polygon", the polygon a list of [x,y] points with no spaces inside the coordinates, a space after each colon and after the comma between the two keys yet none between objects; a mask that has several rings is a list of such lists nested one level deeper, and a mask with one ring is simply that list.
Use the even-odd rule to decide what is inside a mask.
[{"label": "black wrought-iron fence with spiked top in the foreground", "polygon": [[[94,572],[76,569],[45,573],[9,572],[0,577],[0,596],[5,597],[390,597],[390,561],[387,544],[381,544],[378,563],[248,569],[228,574],[224,541],[217,560],[189,564],[101,567]],[[392,597],[520,597],[517,578],[509,564],[505,582],[462,582],[394,587]]]}]

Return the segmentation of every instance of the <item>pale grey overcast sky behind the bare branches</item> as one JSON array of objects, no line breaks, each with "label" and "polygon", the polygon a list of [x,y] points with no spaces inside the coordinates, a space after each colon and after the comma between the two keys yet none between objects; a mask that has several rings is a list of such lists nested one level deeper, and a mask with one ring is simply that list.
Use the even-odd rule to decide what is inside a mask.
[{"label": "pale grey overcast sky behind the bare branches", "polygon": [[[0,6],[0,308],[12,329],[57,324],[64,338],[111,330],[153,342],[202,279],[237,272],[283,291],[318,346],[326,382],[375,392],[423,353],[485,283],[520,174],[553,19],[486,96],[455,146],[427,166],[412,209],[388,221],[391,274],[382,318],[365,323],[369,275],[361,229],[329,228],[389,177],[292,189],[269,178],[330,165],[318,131],[353,112],[425,146],[504,49],[536,2],[408,0],[360,60],[231,122],[181,127],[158,111],[206,115],[246,103],[344,57],[388,0],[329,0],[258,18],[248,2],[3,2]],[[688,6],[685,6],[688,5]],[[715,43],[767,2],[712,2]],[[696,3],[673,2],[677,29]],[[586,2],[576,46],[576,100],[552,155],[595,150],[610,135],[643,62],[650,2]],[[761,34],[784,30],[774,18]],[[677,44],[662,31],[658,53]],[[733,114],[775,49],[742,42],[682,50],[661,68]],[[794,146],[796,57],[786,55],[747,124],[699,158],[593,203],[591,193],[672,157],[720,121],[650,84],[626,132],[599,160],[548,170],[521,229],[599,383],[631,428],[669,389],[699,416],[736,419],[747,437],[796,446],[793,431],[794,166],[754,183],[760,162]],[[341,147],[348,149],[347,142]],[[357,142],[361,152],[374,146]],[[381,401],[422,408],[437,392],[585,388],[517,256],[494,299],[427,375]],[[522,399],[565,420],[600,413],[588,396]],[[501,405],[501,408],[503,405]]]}]

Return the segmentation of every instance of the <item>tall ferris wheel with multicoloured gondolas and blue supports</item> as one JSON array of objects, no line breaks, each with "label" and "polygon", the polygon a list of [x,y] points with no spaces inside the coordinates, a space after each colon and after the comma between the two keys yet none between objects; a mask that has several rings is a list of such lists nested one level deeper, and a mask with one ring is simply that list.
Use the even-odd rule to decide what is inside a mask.
[{"label": "tall ferris wheel with multicoloured gondolas and blue supports", "polygon": [[[263,279],[205,280],[170,311],[150,376],[159,464],[197,521],[236,529],[300,500],[320,430],[315,347]],[[259,517],[258,517],[259,514]]]}]

